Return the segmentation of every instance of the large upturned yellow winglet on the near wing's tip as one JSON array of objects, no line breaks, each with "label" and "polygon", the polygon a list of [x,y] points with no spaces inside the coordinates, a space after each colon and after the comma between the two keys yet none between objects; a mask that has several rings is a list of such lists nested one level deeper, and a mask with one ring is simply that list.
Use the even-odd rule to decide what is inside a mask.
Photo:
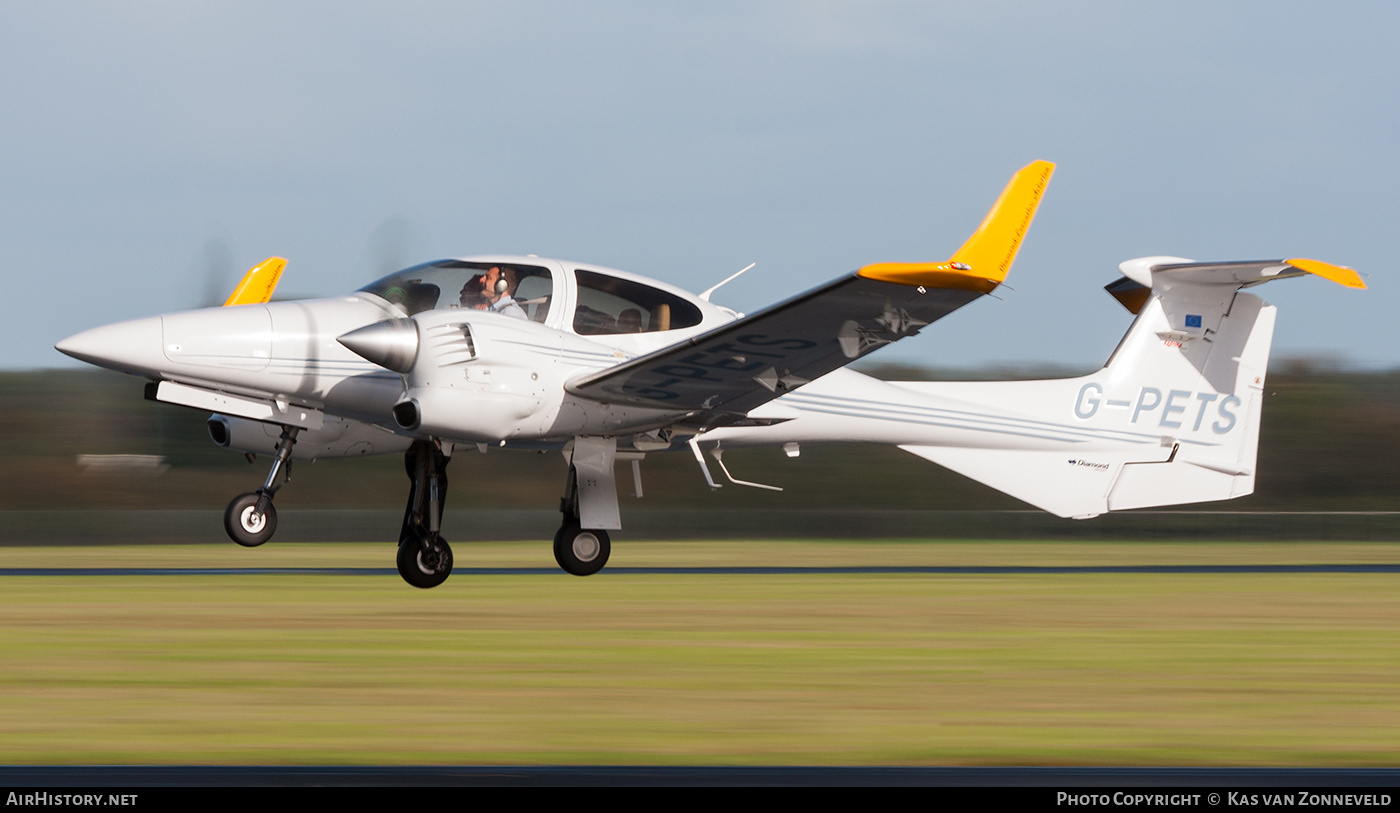
[{"label": "large upturned yellow winglet on the near wing's tip", "polygon": [[1035,161],[1016,172],[977,231],[946,263],[875,263],[857,273],[902,285],[991,291],[1007,278],[1051,174],[1050,161]]}]

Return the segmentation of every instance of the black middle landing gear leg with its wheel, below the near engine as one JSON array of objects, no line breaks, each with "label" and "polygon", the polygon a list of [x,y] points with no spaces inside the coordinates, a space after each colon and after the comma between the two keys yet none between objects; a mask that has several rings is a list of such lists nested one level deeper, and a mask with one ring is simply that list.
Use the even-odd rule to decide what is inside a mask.
[{"label": "black middle landing gear leg with its wheel, below the near engine", "polygon": [[435,588],[452,574],[452,549],[442,539],[448,456],[435,441],[414,441],[403,455],[409,505],[399,530],[399,575],[416,588]]}]

